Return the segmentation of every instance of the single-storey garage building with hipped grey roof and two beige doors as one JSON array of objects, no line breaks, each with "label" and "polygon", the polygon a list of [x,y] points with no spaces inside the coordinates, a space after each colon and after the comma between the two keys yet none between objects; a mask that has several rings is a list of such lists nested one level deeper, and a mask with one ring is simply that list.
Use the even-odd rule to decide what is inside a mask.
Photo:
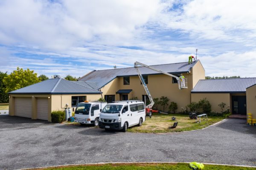
[{"label": "single-storey garage building with hipped grey roof and two beige doors", "polygon": [[97,100],[102,92],[95,82],[48,79],[9,93],[9,115],[51,121],[51,112],[76,107],[84,100]]}]

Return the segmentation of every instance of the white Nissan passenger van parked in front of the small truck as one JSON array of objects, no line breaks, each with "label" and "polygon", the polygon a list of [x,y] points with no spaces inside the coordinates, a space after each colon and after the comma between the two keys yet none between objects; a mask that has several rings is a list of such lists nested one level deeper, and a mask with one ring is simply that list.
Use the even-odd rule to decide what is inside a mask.
[{"label": "white Nissan passenger van parked in front of the small truck", "polygon": [[141,126],[146,119],[145,105],[142,101],[121,101],[109,103],[99,115],[99,127],[105,130],[121,130]]}]

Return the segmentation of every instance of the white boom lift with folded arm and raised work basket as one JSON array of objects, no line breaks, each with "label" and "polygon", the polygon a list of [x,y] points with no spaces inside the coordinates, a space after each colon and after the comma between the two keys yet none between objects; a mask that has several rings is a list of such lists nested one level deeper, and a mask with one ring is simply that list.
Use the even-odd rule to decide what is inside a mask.
[{"label": "white boom lift with folded arm and raised work basket", "polygon": [[[168,75],[168,76],[171,76],[171,77],[176,78],[176,79],[177,79],[177,82],[178,82],[178,86],[179,86],[178,88],[179,88],[179,89],[188,88],[188,87],[187,87],[186,79],[180,79],[179,77],[177,77],[177,76],[175,76],[175,75],[166,73],[166,72],[161,71],[161,70],[159,70],[159,69],[157,69],[157,68],[154,68],[154,67],[152,67],[152,66],[145,65],[145,64],[143,64],[143,63],[141,63],[141,62],[134,62],[134,68],[135,68],[136,71],[138,72],[138,75],[139,75],[139,77],[140,77],[140,81],[142,82],[143,87],[144,87],[146,93],[148,94],[148,98],[149,98],[149,100],[150,100],[150,102],[151,102],[149,105],[146,106],[146,113],[148,114],[148,116],[149,116],[150,118],[151,118],[151,115],[152,115],[152,107],[153,107],[153,105],[154,105],[154,101],[153,101],[153,98],[152,98],[152,96],[151,96],[151,94],[150,94],[150,92],[149,92],[149,90],[148,90],[148,87],[147,87],[147,85],[146,85],[146,83],[145,83],[145,81],[144,81],[144,79],[143,79],[143,76],[142,76],[142,74],[140,73],[140,70],[139,70],[139,68],[138,68],[138,65],[141,65],[141,66],[143,66],[143,67],[149,68],[149,69],[154,70],[154,71],[157,71],[157,72],[159,72],[159,73],[166,74],[166,75]],[[182,82],[182,81],[184,81],[184,82]]]}]

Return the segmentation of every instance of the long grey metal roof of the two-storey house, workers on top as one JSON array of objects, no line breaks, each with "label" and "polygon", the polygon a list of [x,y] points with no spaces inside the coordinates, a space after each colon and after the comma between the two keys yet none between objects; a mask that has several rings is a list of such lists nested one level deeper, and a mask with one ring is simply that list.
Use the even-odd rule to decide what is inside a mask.
[{"label": "long grey metal roof of the two-storey house, workers on top", "polygon": [[[187,73],[190,69],[198,62],[192,62],[192,64],[188,64],[188,62],[180,62],[180,63],[172,63],[172,64],[162,64],[162,65],[152,65],[154,68],[158,68],[162,71],[171,74],[180,74]],[[150,74],[160,74],[157,71],[151,70],[146,67],[140,67],[141,74],[150,75]],[[79,81],[84,82],[99,82],[99,88],[102,88],[109,82],[111,82],[116,77],[124,77],[124,76],[137,76],[137,71],[134,67],[131,68],[116,68],[110,70],[98,70],[92,71],[90,74],[81,77]]]}]

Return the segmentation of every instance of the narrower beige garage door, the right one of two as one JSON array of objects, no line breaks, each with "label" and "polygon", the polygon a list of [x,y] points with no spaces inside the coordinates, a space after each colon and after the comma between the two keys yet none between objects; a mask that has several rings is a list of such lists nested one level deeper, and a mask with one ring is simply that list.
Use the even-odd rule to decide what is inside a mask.
[{"label": "narrower beige garage door, the right one of two", "polygon": [[48,120],[48,98],[37,99],[37,119]]}]

